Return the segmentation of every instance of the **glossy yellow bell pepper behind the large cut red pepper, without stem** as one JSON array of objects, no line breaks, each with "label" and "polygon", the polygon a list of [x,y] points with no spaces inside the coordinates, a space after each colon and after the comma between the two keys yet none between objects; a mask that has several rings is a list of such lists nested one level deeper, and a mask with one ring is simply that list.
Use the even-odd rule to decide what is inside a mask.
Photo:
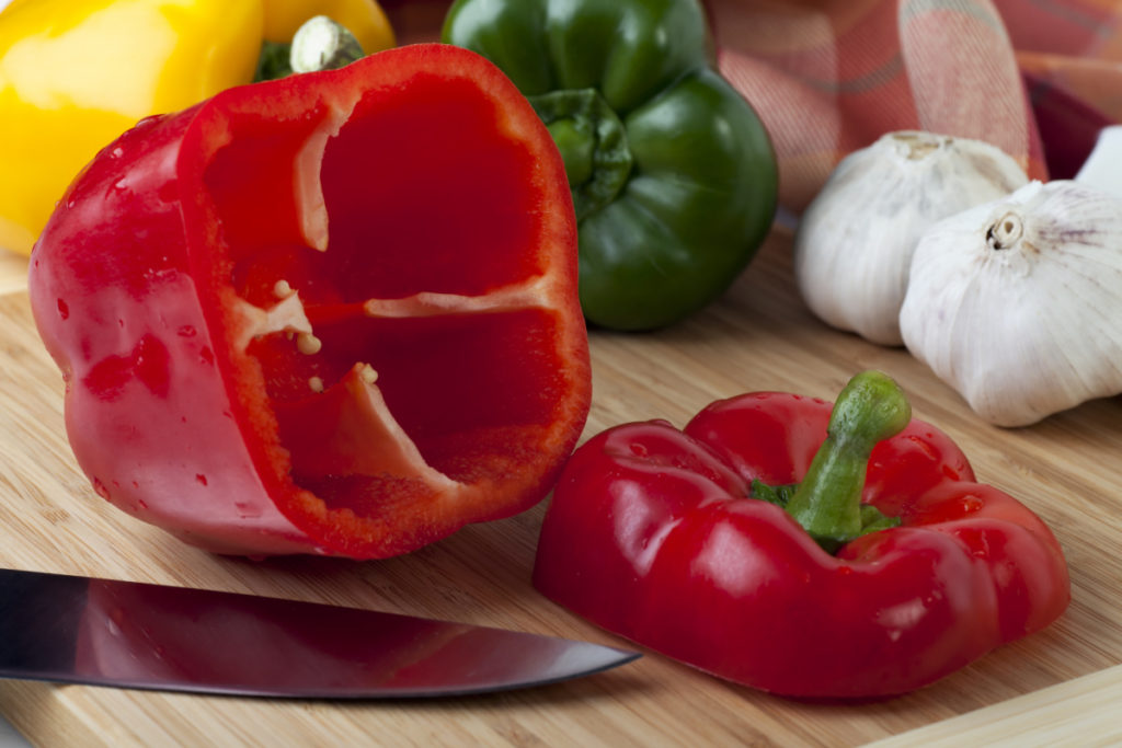
[{"label": "glossy yellow bell pepper behind the large cut red pepper, without stem", "polygon": [[316,15],[367,53],[373,0],[13,0],[0,11],[0,248],[28,255],[79,170],[149,114],[249,83],[263,40]]}]

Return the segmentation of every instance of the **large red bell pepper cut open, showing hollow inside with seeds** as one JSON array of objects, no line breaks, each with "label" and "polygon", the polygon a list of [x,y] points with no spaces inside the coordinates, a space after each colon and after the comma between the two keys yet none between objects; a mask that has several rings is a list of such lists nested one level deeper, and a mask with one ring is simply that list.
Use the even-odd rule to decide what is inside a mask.
[{"label": "large red bell pepper cut open, showing hollow inside with seeds", "polygon": [[545,496],[589,405],[576,279],[545,127],[419,45],[141,121],[30,295],[101,496],[215,552],[384,557]]}]

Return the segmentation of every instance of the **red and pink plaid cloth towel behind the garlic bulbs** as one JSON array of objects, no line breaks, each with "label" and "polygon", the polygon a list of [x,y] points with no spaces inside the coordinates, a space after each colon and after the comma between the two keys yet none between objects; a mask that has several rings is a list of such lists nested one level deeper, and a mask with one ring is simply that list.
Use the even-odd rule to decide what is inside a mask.
[{"label": "red and pink plaid cloth towel behind the garlic bulbs", "polygon": [[798,212],[884,132],[992,142],[1070,177],[1122,121],[1122,0],[708,0],[718,63]]}]

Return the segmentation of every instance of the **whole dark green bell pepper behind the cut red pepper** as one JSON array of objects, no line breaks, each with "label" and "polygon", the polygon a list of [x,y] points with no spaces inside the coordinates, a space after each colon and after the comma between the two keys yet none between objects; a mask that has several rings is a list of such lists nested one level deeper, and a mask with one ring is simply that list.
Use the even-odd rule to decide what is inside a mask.
[{"label": "whole dark green bell pepper behind the cut red pepper", "polygon": [[494,62],[553,135],[589,323],[677,322],[755,256],[775,211],[774,151],[714,68],[697,0],[457,0],[442,40]]}]

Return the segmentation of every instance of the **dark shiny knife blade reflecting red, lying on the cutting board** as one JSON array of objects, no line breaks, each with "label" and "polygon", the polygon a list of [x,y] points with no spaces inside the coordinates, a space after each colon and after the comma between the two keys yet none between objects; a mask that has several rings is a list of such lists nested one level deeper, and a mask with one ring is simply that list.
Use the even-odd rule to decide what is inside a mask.
[{"label": "dark shiny knife blade reflecting red, lying on the cutting board", "polygon": [[0,677],[296,699],[557,683],[638,653],[359,608],[0,570]]}]

